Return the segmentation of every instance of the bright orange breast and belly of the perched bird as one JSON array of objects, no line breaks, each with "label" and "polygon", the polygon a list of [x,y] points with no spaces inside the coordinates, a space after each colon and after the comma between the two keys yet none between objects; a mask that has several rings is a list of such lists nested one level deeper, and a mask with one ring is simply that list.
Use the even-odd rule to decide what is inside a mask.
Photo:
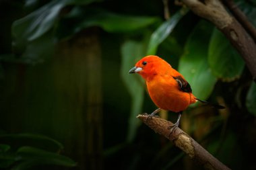
[{"label": "bright orange breast and belly of the perched bird", "polygon": [[172,77],[158,77],[147,81],[148,92],[152,101],[163,110],[181,112],[191,103],[195,103],[195,96],[179,90],[179,85]]}]

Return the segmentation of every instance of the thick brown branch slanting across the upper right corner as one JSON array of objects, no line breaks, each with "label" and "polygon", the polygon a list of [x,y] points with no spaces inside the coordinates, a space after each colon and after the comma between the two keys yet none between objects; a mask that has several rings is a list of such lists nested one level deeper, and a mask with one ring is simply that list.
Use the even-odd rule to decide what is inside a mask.
[{"label": "thick brown branch slanting across the upper right corner", "polygon": [[237,20],[226,11],[220,0],[182,0],[191,11],[212,22],[243,56],[256,82],[256,44]]}]

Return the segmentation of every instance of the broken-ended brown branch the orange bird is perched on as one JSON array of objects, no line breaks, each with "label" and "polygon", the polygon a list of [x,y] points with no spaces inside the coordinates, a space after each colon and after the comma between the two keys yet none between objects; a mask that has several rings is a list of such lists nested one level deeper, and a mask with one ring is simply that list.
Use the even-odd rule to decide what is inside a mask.
[{"label": "broken-ended brown branch the orange bird is perched on", "polygon": [[172,122],[163,120],[161,118],[152,118],[147,121],[148,116],[139,115],[137,116],[143,123],[148,125],[152,130],[158,134],[162,134],[170,141],[174,143],[175,146],[181,148],[191,159],[197,163],[203,165],[205,169],[211,170],[228,170],[223,163],[218,161],[214,156],[208,153],[200,144],[198,144],[191,136],[183,132],[180,128],[177,128],[172,134],[170,134],[169,126]]}]

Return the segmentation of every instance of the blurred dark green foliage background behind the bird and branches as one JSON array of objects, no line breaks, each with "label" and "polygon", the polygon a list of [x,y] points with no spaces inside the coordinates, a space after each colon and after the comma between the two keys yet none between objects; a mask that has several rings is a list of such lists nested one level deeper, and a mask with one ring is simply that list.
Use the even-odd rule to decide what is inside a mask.
[{"label": "blurred dark green foliage background behind the bird and branches", "polygon": [[[236,4],[255,26],[255,1]],[[188,108],[181,128],[231,169],[255,169],[256,88],[245,62],[210,22],[173,1],[168,9],[170,18],[162,1],[1,2],[0,167],[202,169],[136,118],[156,106],[128,71],[156,54],[195,96],[226,105]]]}]

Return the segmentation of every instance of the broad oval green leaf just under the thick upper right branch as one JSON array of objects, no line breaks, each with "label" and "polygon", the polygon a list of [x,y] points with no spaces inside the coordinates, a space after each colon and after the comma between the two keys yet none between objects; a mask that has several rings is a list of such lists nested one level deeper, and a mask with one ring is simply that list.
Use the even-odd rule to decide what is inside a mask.
[{"label": "broad oval green leaf just under the thick upper right branch", "polygon": [[212,73],[223,81],[240,77],[245,67],[243,58],[217,29],[214,29],[210,40],[208,61]]}]

